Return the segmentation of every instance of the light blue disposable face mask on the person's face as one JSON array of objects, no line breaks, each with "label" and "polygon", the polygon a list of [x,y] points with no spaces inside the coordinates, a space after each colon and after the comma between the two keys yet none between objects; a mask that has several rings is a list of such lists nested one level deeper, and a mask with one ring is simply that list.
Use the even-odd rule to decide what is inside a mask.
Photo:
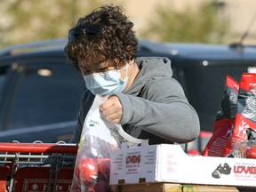
[{"label": "light blue disposable face mask on the person's face", "polygon": [[84,76],[85,86],[94,95],[100,94],[101,96],[106,96],[110,92],[124,92],[128,82],[128,67],[129,65],[121,69],[124,70],[126,68],[126,77],[124,80],[121,78],[121,70],[114,69]]}]

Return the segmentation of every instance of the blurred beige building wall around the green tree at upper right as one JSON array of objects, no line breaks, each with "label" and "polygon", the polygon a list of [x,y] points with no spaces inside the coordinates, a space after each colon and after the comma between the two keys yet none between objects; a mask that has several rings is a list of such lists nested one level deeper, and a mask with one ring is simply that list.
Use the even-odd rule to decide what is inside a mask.
[{"label": "blurred beige building wall around the green tree at upper right", "polygon": [[[117,0],[124,6],[126,14],[135,24],[135,30],[140,34],[140,30],[147,26],[148,20],[154,20],[152,13],[157,4],[166,4],[182,9],[187,5],[196,6],[201,1],[207,0]],[[256,44],[256,0],[219,0],[225,4],[223,14],[230,18],[231,36],[230,42],[238,41],[250,27],[250,34],[245,38],[244,43]],[[252,23],[252,19],[254,22]],[[182,22],[182,20],[180,20]]]}]

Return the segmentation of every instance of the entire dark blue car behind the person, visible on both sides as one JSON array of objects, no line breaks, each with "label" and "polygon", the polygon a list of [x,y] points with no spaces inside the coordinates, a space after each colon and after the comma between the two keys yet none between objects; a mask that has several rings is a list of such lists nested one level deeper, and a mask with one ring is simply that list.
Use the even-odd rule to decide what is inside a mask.
[{"label": "entire dark blue car behind the person, visible on both sides", "polygon": [[[70,139],[85,86],[83,77],[65,57],[66,43],[65,39],[49,40],[0,51],[0,142]],[[256,48],[239,44],[140,40],[137,56],[168,57],[172,61],[173,76],[196,108],[202,132],[210,132],[204,136],[206,141],[211,136],[226,75],[239,81],[243,72],[256,68]],[[200,138],[193,148],[204,148],[206,141]]]}]

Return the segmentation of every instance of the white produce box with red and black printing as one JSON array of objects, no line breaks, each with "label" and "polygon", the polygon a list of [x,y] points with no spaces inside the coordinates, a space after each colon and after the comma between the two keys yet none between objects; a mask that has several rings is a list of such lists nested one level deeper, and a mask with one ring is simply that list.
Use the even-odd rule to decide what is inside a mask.
[{"label": "white produce box with red and black printing", "polygon": [[141,182],[256,187],[256,160],[191,156],[169,144],[114,149],[110,184]]}]

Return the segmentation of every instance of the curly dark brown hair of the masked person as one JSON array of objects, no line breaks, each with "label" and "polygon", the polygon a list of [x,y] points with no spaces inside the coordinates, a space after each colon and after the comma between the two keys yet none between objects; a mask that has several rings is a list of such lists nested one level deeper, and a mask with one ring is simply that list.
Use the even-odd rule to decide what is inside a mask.
[{"label": "curly dark brown hair of the masked person", "polygon": [[[103,5],[80,18],[68,33],[65,52],[77,70],[97,71],[99,64],[121,68],[135,58],[138,39],[120,6]],[[78,62],[78,60],[80,62]]]}]

